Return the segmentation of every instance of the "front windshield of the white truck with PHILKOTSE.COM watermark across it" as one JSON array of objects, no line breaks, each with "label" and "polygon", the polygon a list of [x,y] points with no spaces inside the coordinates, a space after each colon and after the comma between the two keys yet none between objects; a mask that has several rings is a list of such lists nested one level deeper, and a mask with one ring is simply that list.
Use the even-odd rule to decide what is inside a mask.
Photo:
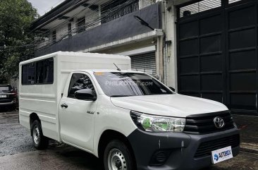
[{"label": "front windshield of the white truck with PHILKOTSE.COM watermark across it", "polygon": [[173,94],[166,86],[145,73],[95,72],[94,75],[109,97]]}]

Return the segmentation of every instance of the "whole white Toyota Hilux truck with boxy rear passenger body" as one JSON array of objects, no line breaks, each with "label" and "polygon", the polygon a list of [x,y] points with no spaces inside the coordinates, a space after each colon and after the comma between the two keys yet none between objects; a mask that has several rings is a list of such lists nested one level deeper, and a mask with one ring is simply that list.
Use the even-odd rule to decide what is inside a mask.
[{"label": "whole white Toyota Hilux truck with boxy rear passenger body", "polygon": [[19,80],[20,124],[39,150],[57,140],[105,170],[202,169],[239,152],[226,106],[131,71],[129,56],[59,51],[21,62]]}]

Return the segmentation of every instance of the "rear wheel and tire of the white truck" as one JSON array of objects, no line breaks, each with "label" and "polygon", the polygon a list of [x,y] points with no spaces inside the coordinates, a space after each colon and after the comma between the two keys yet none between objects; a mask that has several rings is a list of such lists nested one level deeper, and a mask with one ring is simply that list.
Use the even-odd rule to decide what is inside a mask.
[{"label": "rear wheel and tire of the white truck", "polygon": [[43,135],[41,123],[39,121],[33,121],[32,126],[32,141],[37,150],[44,150],[49,144],[49,140]]}]

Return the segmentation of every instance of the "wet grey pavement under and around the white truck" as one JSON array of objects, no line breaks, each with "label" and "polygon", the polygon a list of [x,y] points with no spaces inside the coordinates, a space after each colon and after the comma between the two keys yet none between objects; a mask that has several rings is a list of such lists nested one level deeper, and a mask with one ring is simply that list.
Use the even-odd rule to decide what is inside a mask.
[{"label": "wet grey pavement under and around the white truck", "polygon": [[[0,169],[103,170],[103,167],[102,162],[91,154],[58,142],[51,142],[47,150],[35,150],[29,130],[18,123],[18,113],[8,112],[0,113]],[[238,157],[205,170],[249,169],[258,170],[258,154],[240,152]]]}]

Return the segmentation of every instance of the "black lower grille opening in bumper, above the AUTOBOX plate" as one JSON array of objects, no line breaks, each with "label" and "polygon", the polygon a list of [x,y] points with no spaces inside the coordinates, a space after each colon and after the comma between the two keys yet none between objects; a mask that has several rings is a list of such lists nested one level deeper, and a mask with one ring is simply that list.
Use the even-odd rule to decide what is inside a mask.
[{"label": "black lower grille opening in bumper, above the AUTOBOX plate", "polygon": [[239,144],[240,144],[239,135],[231,135],[217,140],[202,142],[199,145],[197,152],[195,153],[195,158],[210,156],[211,151],[219,150],[223,147],[229,147],[229,146],[234,148],[234,147],[238,147]]}]

